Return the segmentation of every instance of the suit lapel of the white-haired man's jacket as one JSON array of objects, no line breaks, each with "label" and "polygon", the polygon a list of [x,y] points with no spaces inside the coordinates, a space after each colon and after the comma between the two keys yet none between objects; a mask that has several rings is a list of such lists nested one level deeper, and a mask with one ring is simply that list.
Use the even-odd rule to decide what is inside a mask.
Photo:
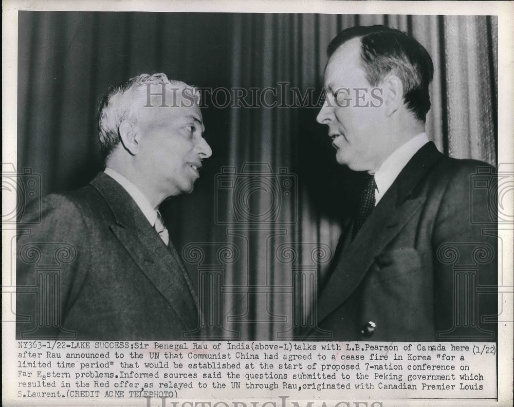
[{"label": "suit lapel of the white-haired man's jacket", "polygon": [[164,245],[132,197],[114,179],[100,173],[91,185],[113,211],[115,222],[110,228],[118,241],[188,325],[191,315],[197,315],[197,299],[173,245]]}]

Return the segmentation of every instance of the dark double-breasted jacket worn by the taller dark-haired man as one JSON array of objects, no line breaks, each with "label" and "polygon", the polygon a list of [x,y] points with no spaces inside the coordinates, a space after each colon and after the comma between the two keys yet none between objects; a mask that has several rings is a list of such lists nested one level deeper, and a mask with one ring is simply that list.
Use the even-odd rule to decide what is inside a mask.
[{"label": "dark double-breasted jacket worn by the taller dark-haired man", "polygon": [[470,189],[478,168],[494,176],[432,142],[414,155],[354,241],[353,224],[343,229],[319,328],[334,340],[496,340],[483,318],[497,315],[497,227],[470,217],[494,218],[487,194]]}]

